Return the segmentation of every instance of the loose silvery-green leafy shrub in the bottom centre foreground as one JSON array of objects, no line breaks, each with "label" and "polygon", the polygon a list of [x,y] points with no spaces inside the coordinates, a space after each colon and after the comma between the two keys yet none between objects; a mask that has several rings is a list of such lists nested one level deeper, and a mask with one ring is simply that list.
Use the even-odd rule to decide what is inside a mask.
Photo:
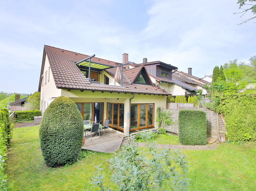
[{"label": "loose silvery-green leafy shrub in the bottom centre foreground", "polygon": [[[185,191],[189,185],[188,165],[179,150],[159,151],[155,144],[148,143],[149,153],[139,153],[138,146],[128,138],[122,151],[108,162],[112,172],[111,181],[119,191]],[[147,157],[146,157],[147,155]],[[101,191],[110,191],[104,186],[102,168],[91,179]],[[109,184],[109,183],[108,183]]]}]

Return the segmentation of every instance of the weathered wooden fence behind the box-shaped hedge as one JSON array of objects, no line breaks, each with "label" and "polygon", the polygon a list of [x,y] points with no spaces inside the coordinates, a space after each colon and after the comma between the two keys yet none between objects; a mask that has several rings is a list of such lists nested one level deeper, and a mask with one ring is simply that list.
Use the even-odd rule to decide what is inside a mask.
[{"label": "weathered wooden fence behind the box-shaped hedge", "polygon": [[171,112],[170,117],[173,120],[173,124],[166,126],[165,129],[173,134],[178,134],[178,115],[180,109],[199,109],[206,112],[206,128],[207,137],[216,138],[223,142],[225,139],[223,136],[226,132],[225,122],[223,116],[217,114],[215,111],[207,109],[206,107],[194,107],[193,104],[180,104],[180,103],[167,103],[167,109]]}]

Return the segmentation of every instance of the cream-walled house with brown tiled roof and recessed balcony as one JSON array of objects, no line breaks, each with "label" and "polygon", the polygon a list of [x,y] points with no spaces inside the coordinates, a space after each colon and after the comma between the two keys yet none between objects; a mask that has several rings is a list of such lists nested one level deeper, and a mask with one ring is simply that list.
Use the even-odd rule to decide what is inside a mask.
[{"label": "cream-walled house with brown tiled roof and recessed balcony", "polygon": [[130,67],[126,53],[118,63],[52,46],[44,46],[38,91],[42,114],[55,98],[66,96],[84,120],[109,119],[125,136],[156,127],[157,107],[165,108],[171,94],[152,83],[146,65]]}]

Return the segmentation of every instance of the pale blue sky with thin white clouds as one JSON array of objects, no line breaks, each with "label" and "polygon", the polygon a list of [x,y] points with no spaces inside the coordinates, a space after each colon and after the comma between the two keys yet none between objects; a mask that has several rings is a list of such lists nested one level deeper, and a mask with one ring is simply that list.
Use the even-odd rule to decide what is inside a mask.
[{"label": "pale blue sky with thin white clouds", "polygon": [[38,91],[43,46],[204,77],[256,55],[256,19],[236,0],[0,0],[0,92]]}]

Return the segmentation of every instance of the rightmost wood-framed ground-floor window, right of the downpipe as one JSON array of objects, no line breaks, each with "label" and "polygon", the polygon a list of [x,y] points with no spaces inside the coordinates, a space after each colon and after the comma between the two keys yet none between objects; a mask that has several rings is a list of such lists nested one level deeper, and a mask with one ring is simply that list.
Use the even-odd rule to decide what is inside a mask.
[{"label": "rightmost wood-framed ground-floor window, right of the downpipe", "polygon": [[131,130],[154,126],[154,104],[131,105]]}]

